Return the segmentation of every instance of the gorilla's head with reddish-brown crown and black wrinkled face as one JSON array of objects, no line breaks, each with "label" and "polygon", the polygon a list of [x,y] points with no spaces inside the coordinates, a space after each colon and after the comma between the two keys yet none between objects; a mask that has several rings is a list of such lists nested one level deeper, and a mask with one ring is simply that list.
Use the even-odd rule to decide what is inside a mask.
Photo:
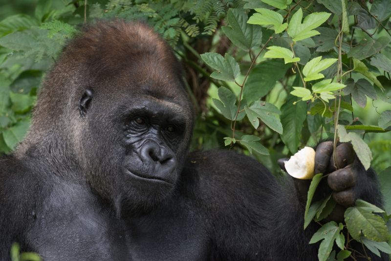
[{"label": "gorilla's head with reddish-brown crown and black wrinkled face", "polygon": [[43,83],[20,152],[50,155],[43,164],[54,174],[87,181],[117,215],[148,211],[173,190],[188,150],[193,111],[181,71],[145,24],[85,27]]}]

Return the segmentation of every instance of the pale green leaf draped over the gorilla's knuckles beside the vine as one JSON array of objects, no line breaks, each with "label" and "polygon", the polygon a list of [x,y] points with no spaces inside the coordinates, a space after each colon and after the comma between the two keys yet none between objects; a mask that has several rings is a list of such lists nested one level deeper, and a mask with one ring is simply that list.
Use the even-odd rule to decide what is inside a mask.
[{"label": "pale green leaf draped over the gorilla's knuckles beside the vine", "polygon": [[341,142],[351,142],[354,152],[356,152],[358,159],[363,164],[365,170],[368,170],[370,167],[370,161],[372,160],[372,152],[363,141],[363,139],[354,132],[347,132],[343,125],[337,126],[338,136]]}]

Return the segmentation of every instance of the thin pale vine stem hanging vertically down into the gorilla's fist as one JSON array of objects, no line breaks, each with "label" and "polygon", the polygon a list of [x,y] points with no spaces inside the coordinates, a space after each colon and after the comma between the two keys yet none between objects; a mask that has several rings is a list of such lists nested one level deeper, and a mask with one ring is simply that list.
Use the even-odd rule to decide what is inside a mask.
[{"label": "thin pale vine stem hanging vertically down into the gorilla's fist", "polygon": [[[338,68],[337,68],[337,82],[341,83],[342,81],[342,38],[344,32],[342,31],[342,22],[340,25],[340,33],[338,34]],[[337,126],[339,120],[339,110],[341,108],[341,90],[338,91],[338,106],[337,106],[337,98],[335,98],[334,102],[334,143],[333,143],[333,159],[334,165],[337,164],[337,154],[335,153],[337,148]],[[335,166],[338,168],[338,166]]]}]

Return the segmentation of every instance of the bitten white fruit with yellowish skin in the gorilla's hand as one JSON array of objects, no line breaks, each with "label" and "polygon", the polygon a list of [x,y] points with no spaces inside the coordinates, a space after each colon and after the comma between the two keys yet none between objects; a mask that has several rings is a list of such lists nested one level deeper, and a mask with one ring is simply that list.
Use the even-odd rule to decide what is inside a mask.
[{"label": "bitten white fruit with yellowish skin in the gorilla's hand", "polygon": [[286,172],[299,179],[311,179],[314,176],[315,151],[304,147],[284,162]]}]

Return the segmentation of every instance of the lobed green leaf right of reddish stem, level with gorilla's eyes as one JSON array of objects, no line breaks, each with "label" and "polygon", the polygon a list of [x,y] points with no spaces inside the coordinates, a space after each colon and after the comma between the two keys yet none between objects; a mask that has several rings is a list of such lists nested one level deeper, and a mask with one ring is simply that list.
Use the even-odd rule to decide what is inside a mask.
[{"label": "lobed green leaf right of reddish stem, level with gorilla's eyes", "polygon": [[244,107],[247,117],[253,127],[257,129],[260,125],[258,120],[266,124],[273,131],[277,131],[282,134],[282,124],[280,122],[278,114],[281,114],[281,111],[271,103],[256,101],[250,107]]}]

